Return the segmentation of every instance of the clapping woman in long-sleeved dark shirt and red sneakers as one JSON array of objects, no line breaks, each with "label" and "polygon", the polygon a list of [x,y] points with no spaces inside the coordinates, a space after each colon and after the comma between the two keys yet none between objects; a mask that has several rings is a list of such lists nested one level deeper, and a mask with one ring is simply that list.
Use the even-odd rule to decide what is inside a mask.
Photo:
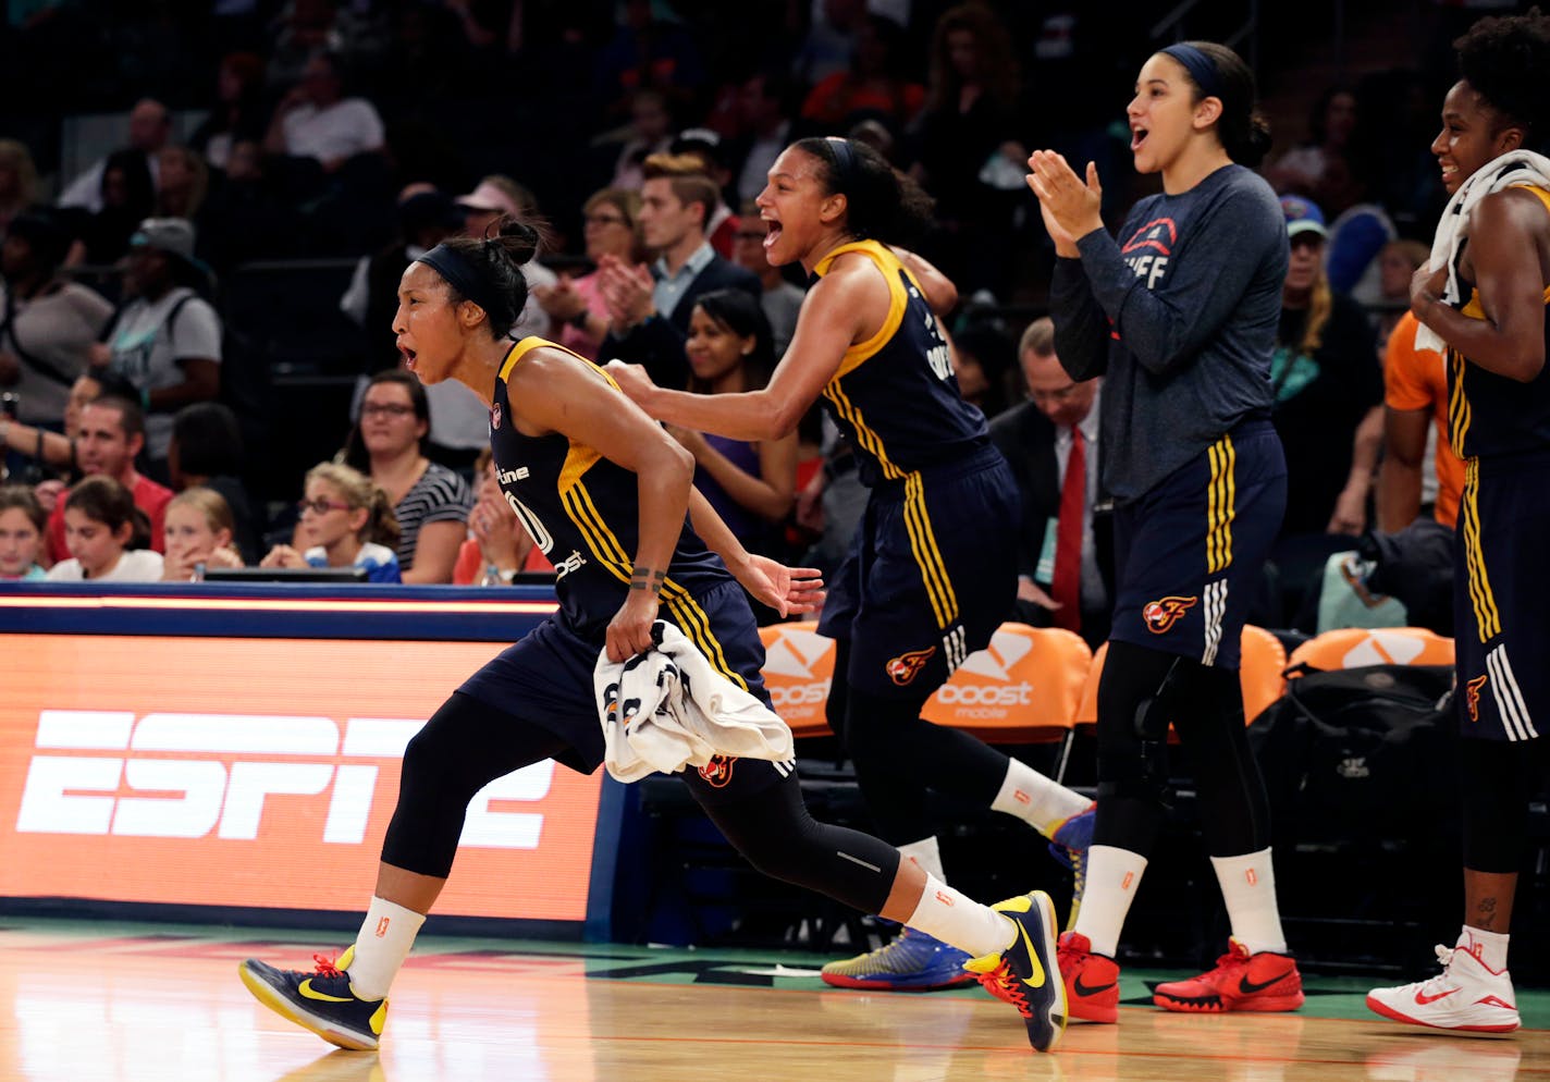
[{"label": "clapping woman in long-sleeved dark shirt and red sneakers", "polygon": [[1119,932],[1164,814],[1167,732],[1189,752],[1200,820],[1232,924],[1217,967],[1161,984],[1170,1011],[1291,1011],[1265,784],[1243,735],[1238,637],[1286,505],[1269,422],[1271,352],[1288,245],[1280,203],[1251,172],[1269,144],[1254,76],[1232,50],[1170,45],[1136,79],[1132,153],[1162,194],[1118,240],[1097,169],[1029,158],[1059,256],[1056,352],[1104,375],[1104,481],[1116,501],[1118,588],[1097,694],[1097,825],[1076,929],[1062,936],[1071,1012],[1118,1020]]}]

